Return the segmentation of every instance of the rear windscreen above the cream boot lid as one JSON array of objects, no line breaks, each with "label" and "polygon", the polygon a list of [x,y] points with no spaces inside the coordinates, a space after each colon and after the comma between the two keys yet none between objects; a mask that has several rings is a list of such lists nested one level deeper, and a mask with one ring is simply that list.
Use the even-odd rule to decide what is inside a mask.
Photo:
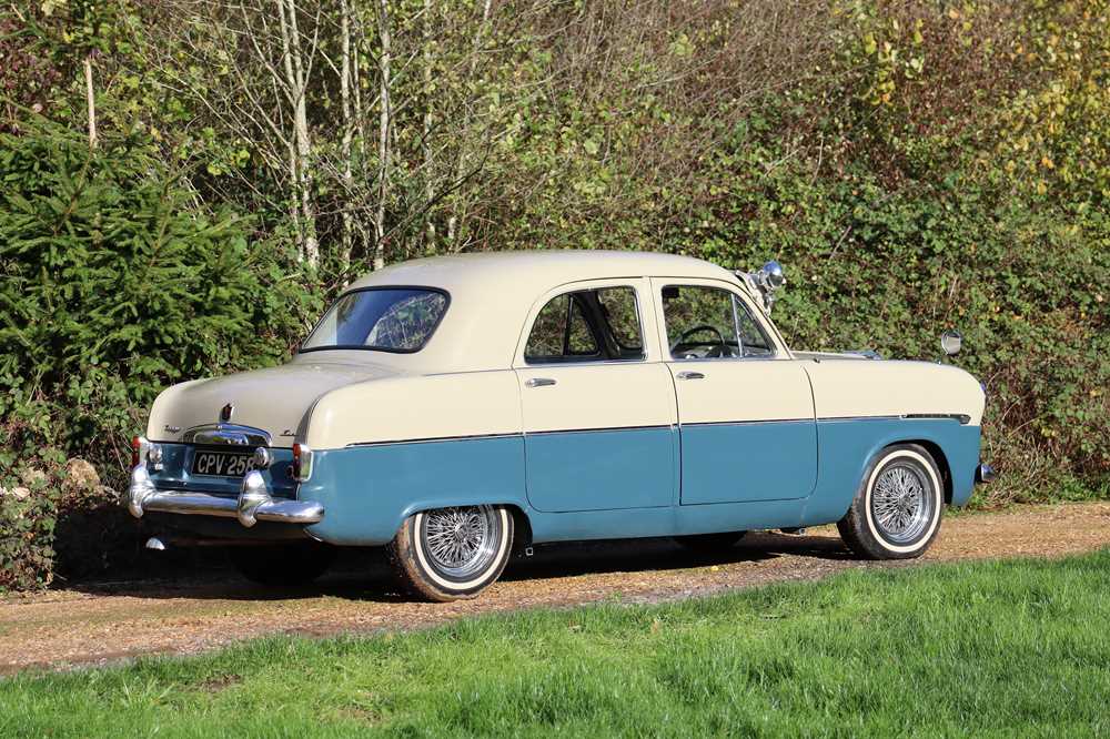
[{"label": "rear windscreen above the cream boot lid", "polygon": [[446,293],[426,287],[356,290],[335,301],[301,351],[417,352],[440,325],[447,302]]}]

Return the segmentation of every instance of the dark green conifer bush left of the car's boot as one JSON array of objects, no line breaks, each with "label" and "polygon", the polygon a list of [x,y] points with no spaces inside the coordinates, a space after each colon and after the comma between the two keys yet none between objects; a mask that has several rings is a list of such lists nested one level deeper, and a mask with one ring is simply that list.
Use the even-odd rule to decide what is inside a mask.
[{"label": "dark green conifer bush left of the car's boot", "polygon": [[[129,439],[162,388],[286,356],[315,298],[282,252],[249,250],[249,233],[226,210],[198,209],[142,141],[90,152],[42,120],[0,135],[0,470],[59,448],[120,489]],[[73,510],[105,509],[98,495],[110,497],[88,493]],[[6,498],[23,514],[0,517],[0,536],[41,548],[0,583],[49,580],[41,560],[59,503],[52,488]],[[105,524],[122,525],[109,519],[70,527],[65,547],[88,549],[72,537],[100,541]]]}]

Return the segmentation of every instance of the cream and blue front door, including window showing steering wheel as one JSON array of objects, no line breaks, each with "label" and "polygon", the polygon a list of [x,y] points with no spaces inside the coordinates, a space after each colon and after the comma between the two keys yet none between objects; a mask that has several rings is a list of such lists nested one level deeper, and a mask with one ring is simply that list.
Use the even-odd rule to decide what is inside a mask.
[{"label": "cream and blue front door, including window showing steering wheel", "polygon": [[817,423],[801,365],[714,281],[653,280],[678,398],[682,504],[803,498]]}]

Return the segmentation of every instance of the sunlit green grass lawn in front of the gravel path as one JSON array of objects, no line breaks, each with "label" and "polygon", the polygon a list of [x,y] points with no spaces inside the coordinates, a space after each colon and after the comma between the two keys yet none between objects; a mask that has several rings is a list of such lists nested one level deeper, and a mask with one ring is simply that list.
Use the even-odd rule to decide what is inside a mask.
[{"label": "sunlit green grass lawn in front of the gravel path", "polygon": [[0,681],[19,736],[1110,733],[1110,551]]}]

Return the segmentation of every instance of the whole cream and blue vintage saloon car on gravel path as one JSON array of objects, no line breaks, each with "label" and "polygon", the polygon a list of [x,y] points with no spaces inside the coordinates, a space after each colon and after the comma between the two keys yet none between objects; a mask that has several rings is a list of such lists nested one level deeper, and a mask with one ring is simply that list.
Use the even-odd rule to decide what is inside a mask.
[{"label": "whole cream and blue vintage saloon car on gravel path", "polygon": [[289,364],[163,392],[127,505],[179,541],[244,545],[262,583],[384,545],[434,600],[544,541],[727,547],[836,523],[860,556],[919,556],[993,475],[982,386],[947,364],[791,351],[768,317],[781,282],[775,263],[593,251],[374,272]]}]

